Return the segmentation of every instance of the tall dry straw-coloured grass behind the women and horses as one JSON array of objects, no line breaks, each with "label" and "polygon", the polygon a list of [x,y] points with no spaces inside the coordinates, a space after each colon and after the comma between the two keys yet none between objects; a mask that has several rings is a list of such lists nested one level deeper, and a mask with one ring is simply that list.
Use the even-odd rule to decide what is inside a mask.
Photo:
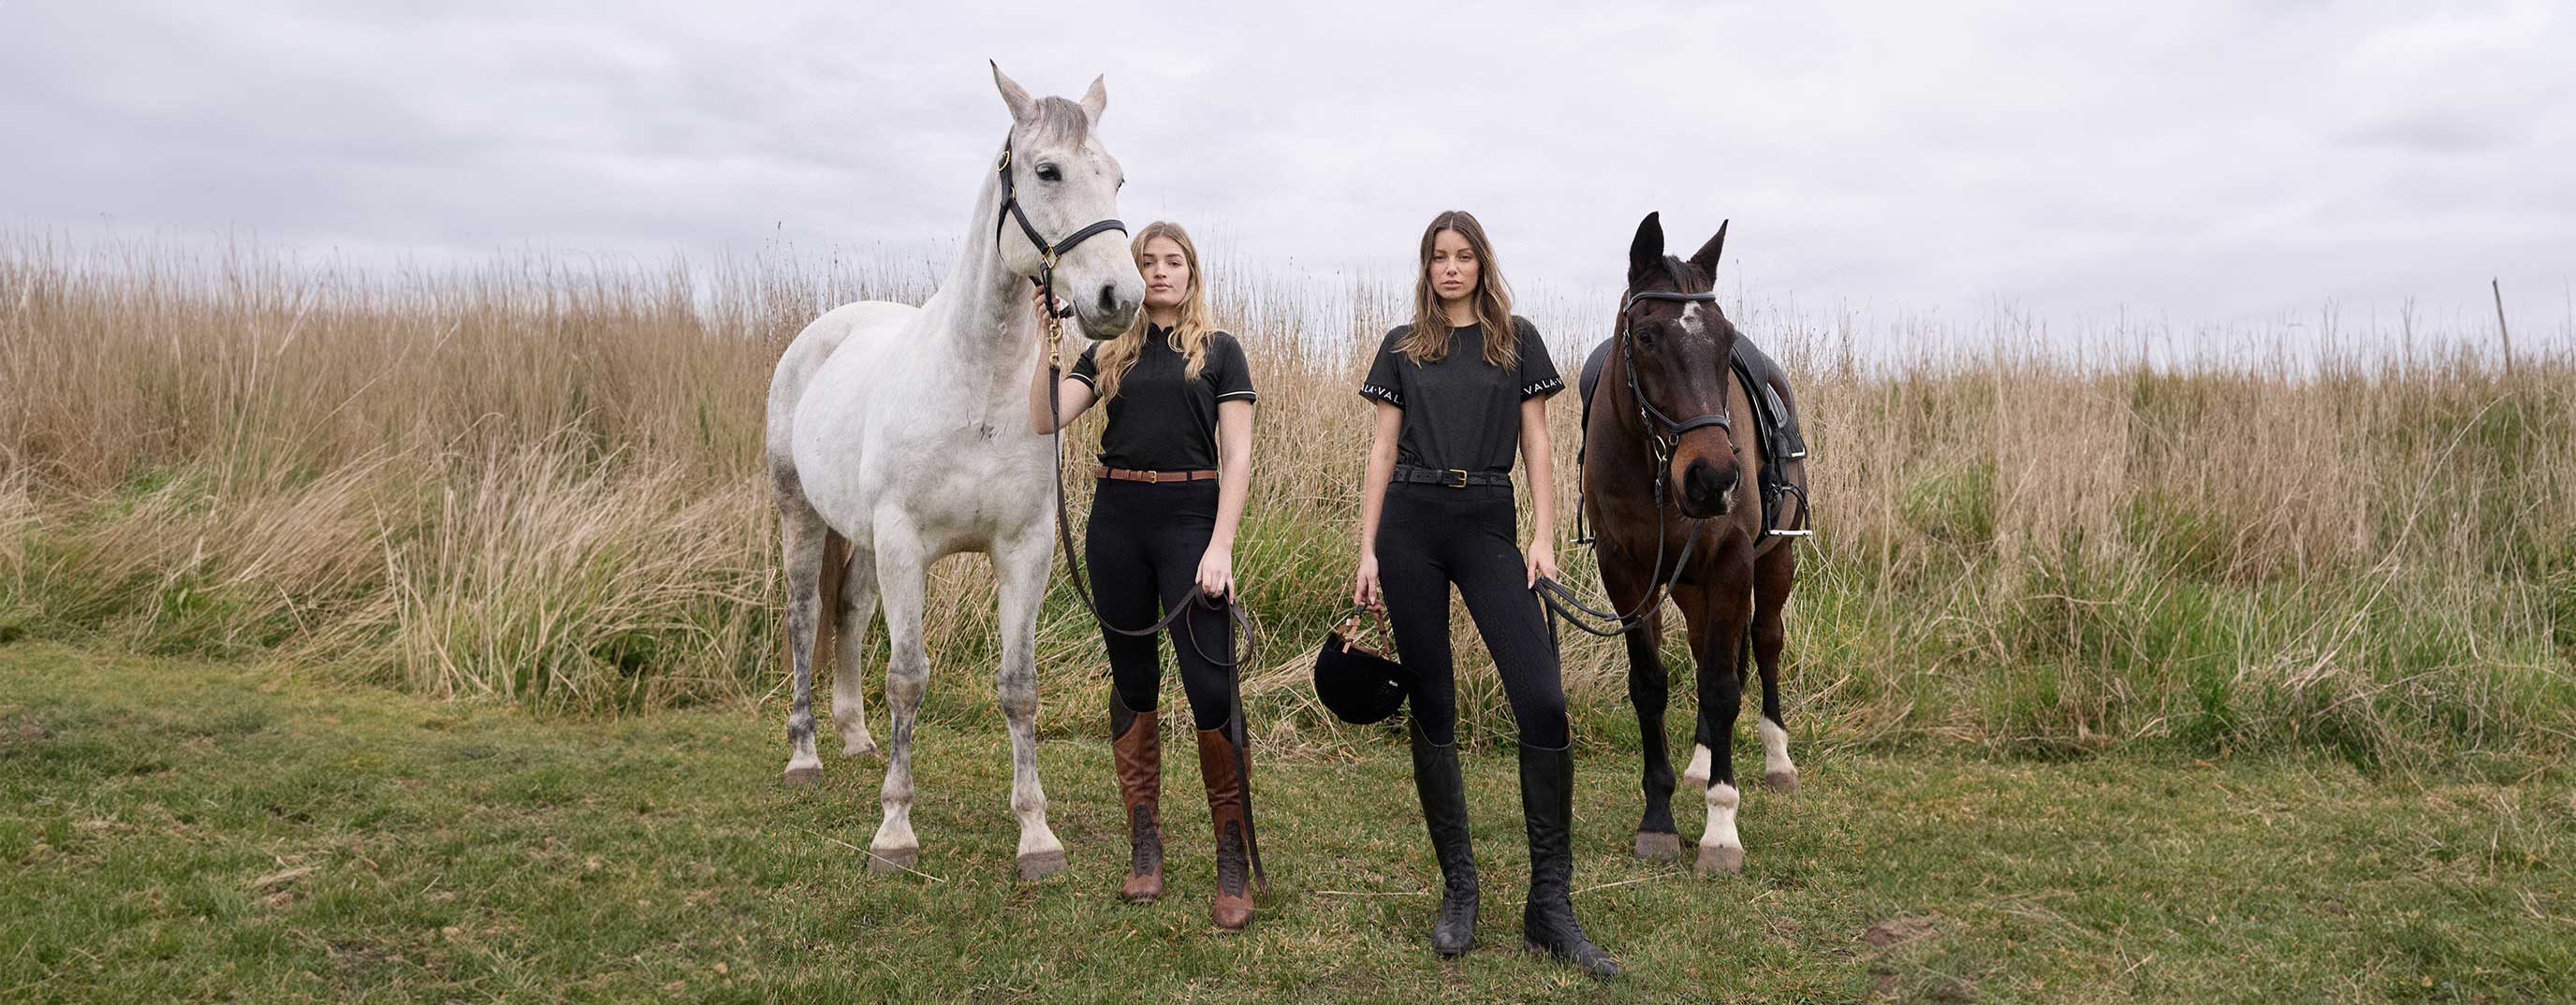
[{"label": "tall dry straw-coloured grass behind the women and horses", "polygon": [[[920,302],[927,276],[884,255],[363,271],[0,237],[0,636],[559,711],[773,698],[770,363],[824,307]],[[1249,696],[1273,742],[1347,742],[1301,673],[1350,593],[1352,387],[1406,291],[1213,278],[1262,387],[1236,554],[1265,642]],[[1808,740],[2496,770],[2568,752],[2566,345],[2512,371],[2460,348],[2483,332],[2143,366],[2117,335],[2076,361],[1999,325],[1880,332],[1950,348],[1862,358],[1850,322],[1739,322],[1798,376],[1816,456],[1788,644]],[[1571,371],[1602,330],[1548,335]],[[1556,402],[1569,523],[1574,412]],[[935,572],[933,719],[997,716],[987,588],[981,559]],[[1468,732],[1494,734],[1507,711],[1463,616],[1461,639]],[[1046,727],[1095,727],[1100,662],[1059,582]],[[1615,647],[1569,634],[1566,678],[1589,742],[1633,740]]]}]

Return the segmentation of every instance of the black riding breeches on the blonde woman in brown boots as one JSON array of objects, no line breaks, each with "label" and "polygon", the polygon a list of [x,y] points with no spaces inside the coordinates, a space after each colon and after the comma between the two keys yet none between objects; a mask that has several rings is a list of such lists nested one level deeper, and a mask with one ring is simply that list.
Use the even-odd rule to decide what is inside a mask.
[{"label": "black riding breeches on the blonde woman in brown boots", "polygon": [[[1216,482],[1097,484],[1082,554],[1092,567],[1100,616],[1121,629],[1144,629],[1188,603],[1190,613],[1170,629],[1180,691],[1190,696],[1190,722],[1198,729],[1224,727],[1234,714],[1234,673],[1216,660],[1234,657],[1234,624],[1226,621],[1226,608],[1193,600],[1198,559],[1216,533]],[[1110,649],[1118,698],[1136,711],[1159,709],[1162,642],[1108,629],[1100,639]]]}]

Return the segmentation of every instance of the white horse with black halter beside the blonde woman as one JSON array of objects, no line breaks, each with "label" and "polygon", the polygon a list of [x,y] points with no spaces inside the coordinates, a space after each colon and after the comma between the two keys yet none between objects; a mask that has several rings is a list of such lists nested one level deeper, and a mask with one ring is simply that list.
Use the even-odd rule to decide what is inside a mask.
[{"label": "white horse with black halter beside the blonde woman", "polygon": [[[788,711],[788,783],[817,783],[814,660],[824,580],[840,580],[832,724],[842,752],[876,750],[860,698],[858,660],[868,613],[886,611],[886,819],[868,843],[868,868],[907,868],[912,835],[912,722],[930,683],[922,593],[933,562],[958,551],[992,557],[1002,603],[1002,667],[994,691],[1010,724],[1010,809],[1020,819],[1020,874],[1064,866],[1038,786],[1038,600],[1054,567],[1054,448],[1028,433],[1028,381],[1041,366],[1030,278],[1048,273],[1074,307],[1082,335],[1123,332],[1144,304],[1144,281],[1123,240],[1118,160],[1095,126],[1108,90],[1092,80],[1079,103],[1030,98],[992,70],[1010,106],[1010,139],[984,170],[966,245],[948,281],[922,307],[860,302],[806,325],[770,379],[768,466],[788,567],[788,652],[796,704]],[[1012,206],[1020,214],[1012,214]],[[1025,214],[1025,216],[1023,216]],[[1105,224],[1105,227],[1103,227]],[[1046,237],[1038,237],[1046,235]],[[1054,255],[1038,245],[1054,242]],[[1074,247],[1064,247],[1074,240]],[[848,562],[837,551],[848,546]],[[827,559],[827,554],[832,554]],[[840,567],[827,567],[840,564]]]}]

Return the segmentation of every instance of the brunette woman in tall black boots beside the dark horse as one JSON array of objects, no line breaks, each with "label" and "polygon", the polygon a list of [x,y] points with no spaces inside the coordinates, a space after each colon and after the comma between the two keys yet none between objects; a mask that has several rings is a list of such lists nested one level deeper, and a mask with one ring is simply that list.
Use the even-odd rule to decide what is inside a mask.
[{"label": "brunette woman in tall black boots beside the dark horse", "polygon": [[[1378,430],[1360,492],[1360,572],[1352,598],[1383,608],[1414,675],[1412,747],[1422,822],[1440,858],[1432,948],[1476,941],[1476,856],[1458,773],[1458,685],[1450,670],[1450,588],[1466,598],[1520,724],[1520,814],[1530,835],[1522,941],[1592,974],[1618,974],[1574,920],[1574,750],[1556,636],[1530,588],[1556,577],[1556,472],[1548,397],[1556,376],[1538,327],[1512,314],[1494,245],[1466,211],[1422,232],[1414,322],[1386,332],[1360,397]],[[1512,448],[1530,466],[1535,528],[1515,539]]]}]

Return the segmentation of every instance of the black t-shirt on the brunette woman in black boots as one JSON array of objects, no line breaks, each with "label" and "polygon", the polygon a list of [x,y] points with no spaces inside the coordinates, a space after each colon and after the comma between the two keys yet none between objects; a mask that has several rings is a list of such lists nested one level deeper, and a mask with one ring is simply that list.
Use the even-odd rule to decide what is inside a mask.
[{"label": "black t-shirt on the brunette woman in black boots", "polygon": [[1450,327],[1450,350],[1422,366],[1396,350],[1414,327],[1399,325],[1378,345],[1360,397],[1404,410],[1396,464],[1427,469],[1510,472],[1520,448],[1520,402],[1566,389],[1538,325],[1512,317],[1520,366],[1484,361],[1484,325]]}]

